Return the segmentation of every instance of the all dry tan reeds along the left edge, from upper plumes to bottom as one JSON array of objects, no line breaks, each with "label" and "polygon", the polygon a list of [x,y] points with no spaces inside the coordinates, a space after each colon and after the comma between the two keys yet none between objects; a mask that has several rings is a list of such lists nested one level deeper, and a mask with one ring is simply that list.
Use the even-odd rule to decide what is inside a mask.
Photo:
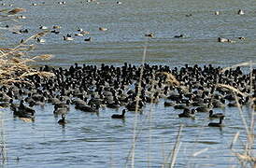
[{"label": "all dry tan reeds along the left edge, from upper plumes to bottom", "polygon": [[[13,8],[13,9],[2,9],[0,10],[0,21],[16,21],[15,15],[26,11],[24,8]],[[19,25],[13,26],[11,28],[3,28],[7,31],[15,31],[20,28]],[[28,44],[32,39],[47,35],[49,31],[39,32],[36,35],[32,35],[24,40],[21,40],[21,43],[13,45],[14,47],[1,47],[0,48],[0,85],[12,85],[13,83],[26,83],[26,77],[29,76],[40,76],[40,77],[52,77],[53,74],[50,72],[38,71],[35,68],[32,68],[29,63],[36,62],[38,60],[50,60],[52,55],[38,55],[30,56],[29,51],[35,49],[34,44]],[[5,115],[4,112],[0,112],[0,159],[4,164],[7,160],[12,160],[12,158],[7,157],[7,147],[5,139]],[[19,160],[15,158],[14,160]]]}]

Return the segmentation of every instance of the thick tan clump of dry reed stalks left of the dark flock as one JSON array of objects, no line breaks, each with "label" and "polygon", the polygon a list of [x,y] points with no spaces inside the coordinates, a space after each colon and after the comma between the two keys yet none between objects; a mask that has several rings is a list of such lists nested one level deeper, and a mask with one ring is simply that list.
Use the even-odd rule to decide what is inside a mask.
[{"label": "thick tan clump of dry reed stalks left of the dark flock", "polygon": [[[19,10],[13,10],[13,12]],[[0,49],[0,84],[8,85],[11,82],[26,82],[22,81],[24,77],[38,75],[41,77],[52,77],[53,74],[48,72],[37,72],[36,69],[31,68],[27,63],[35,62],[36,60],[49,60],[52,55],[45,54],[36,57],[27,56],[27,51],[34,49],[34,45],[26,45],[25,43],[36,37],[47,35],[48,31],[40,32],[32,35],[15,48],[1,48]]]}]

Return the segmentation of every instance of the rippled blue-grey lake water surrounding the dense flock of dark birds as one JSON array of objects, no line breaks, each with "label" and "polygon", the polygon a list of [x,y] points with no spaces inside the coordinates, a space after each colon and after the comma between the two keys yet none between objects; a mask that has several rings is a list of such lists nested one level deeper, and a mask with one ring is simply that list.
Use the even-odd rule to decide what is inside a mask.
[{"label": "rippled blue-grey lake water surrounding the dense flock of dark birds", "polygon": [[[81,3],[82,2],[82,3]],[[21,25],[28,34],[14,35],[1,30],[0,44],[3,47],[19,43],[40,32],[39,26],[61,25],[59,35],[44,37],[45,44],[36,44],[31,55],[53,54],[48,62],[54,66],[69,66],[73,63],[139,64],[144,46],[147,46],[146,62],[167,64],[171,67],[185,63],[200,65],[212,63],[222,67],[256,61],[256,2],[203,1],[203,0],[126,0],[118,5],[113,0],[98,0],[88,3],[68,0],[66,5],[48,0],[40,1],[3,0],[8,7],[26,8],[21,14],[27,19],[19,22],[1,22]],[[36,3],[37,6],[32,6]],[[237,15],[239,8],[245,15]],[[214,15],[216,10],[220,15]],[[192,14],[187,17],[186,15]],[[78,27],[90,35],[76,36],[74,41],[64,41],[63,35],[78,33]],[[99,27],[106,27],[105,32]],[[145,34],[153,33],[148,38]],[[175,38],[175,35],[185,35]],[[83,39],[92,37],[92,42]],[[218,37],[231,38],[235,43],[218,43]],[[245,40],[239,40],[245,36]],[[36,41],[31,41],[36,43]],[[13,119],[11,111],[0,109],[5,120],[7,167],[125,167],[131,161],[127,156],[132,147],[135,113],[127,113],[125,120],[111,119],[118,111],[101,109],[99,115],[84,113],[73,106],[67,115],[65,127],[57,123],[51,105],[36,107],[36,121],[24,122]],[[198,114],[196,119],[178,119],[180,110],[164,107],[164,101],[151,106],[151,120],[147,118],[150,105],[138,115],[135,146],[135,167],[160,167],[172,151],[180,124],[184,124],[182,142],[176,161],[177,167],[232,167],[239,163],[229,148],[235,133],[240,132],[246,140],[245,130],[237,108],[217,109],[224,112],[225,127],[207,127],[210,119]],[[249,109],[244,108],[245,116]],[[249,119],[248,119],[249,122]],[[150,137],[150,138],[149,138]],[[237,143],[236,148],[242,148]],[[199,150],[206,151],[192,156]],[[255,149],[255,147],[254,147]],[[254,153],[255,154],[255,153]]]}]

